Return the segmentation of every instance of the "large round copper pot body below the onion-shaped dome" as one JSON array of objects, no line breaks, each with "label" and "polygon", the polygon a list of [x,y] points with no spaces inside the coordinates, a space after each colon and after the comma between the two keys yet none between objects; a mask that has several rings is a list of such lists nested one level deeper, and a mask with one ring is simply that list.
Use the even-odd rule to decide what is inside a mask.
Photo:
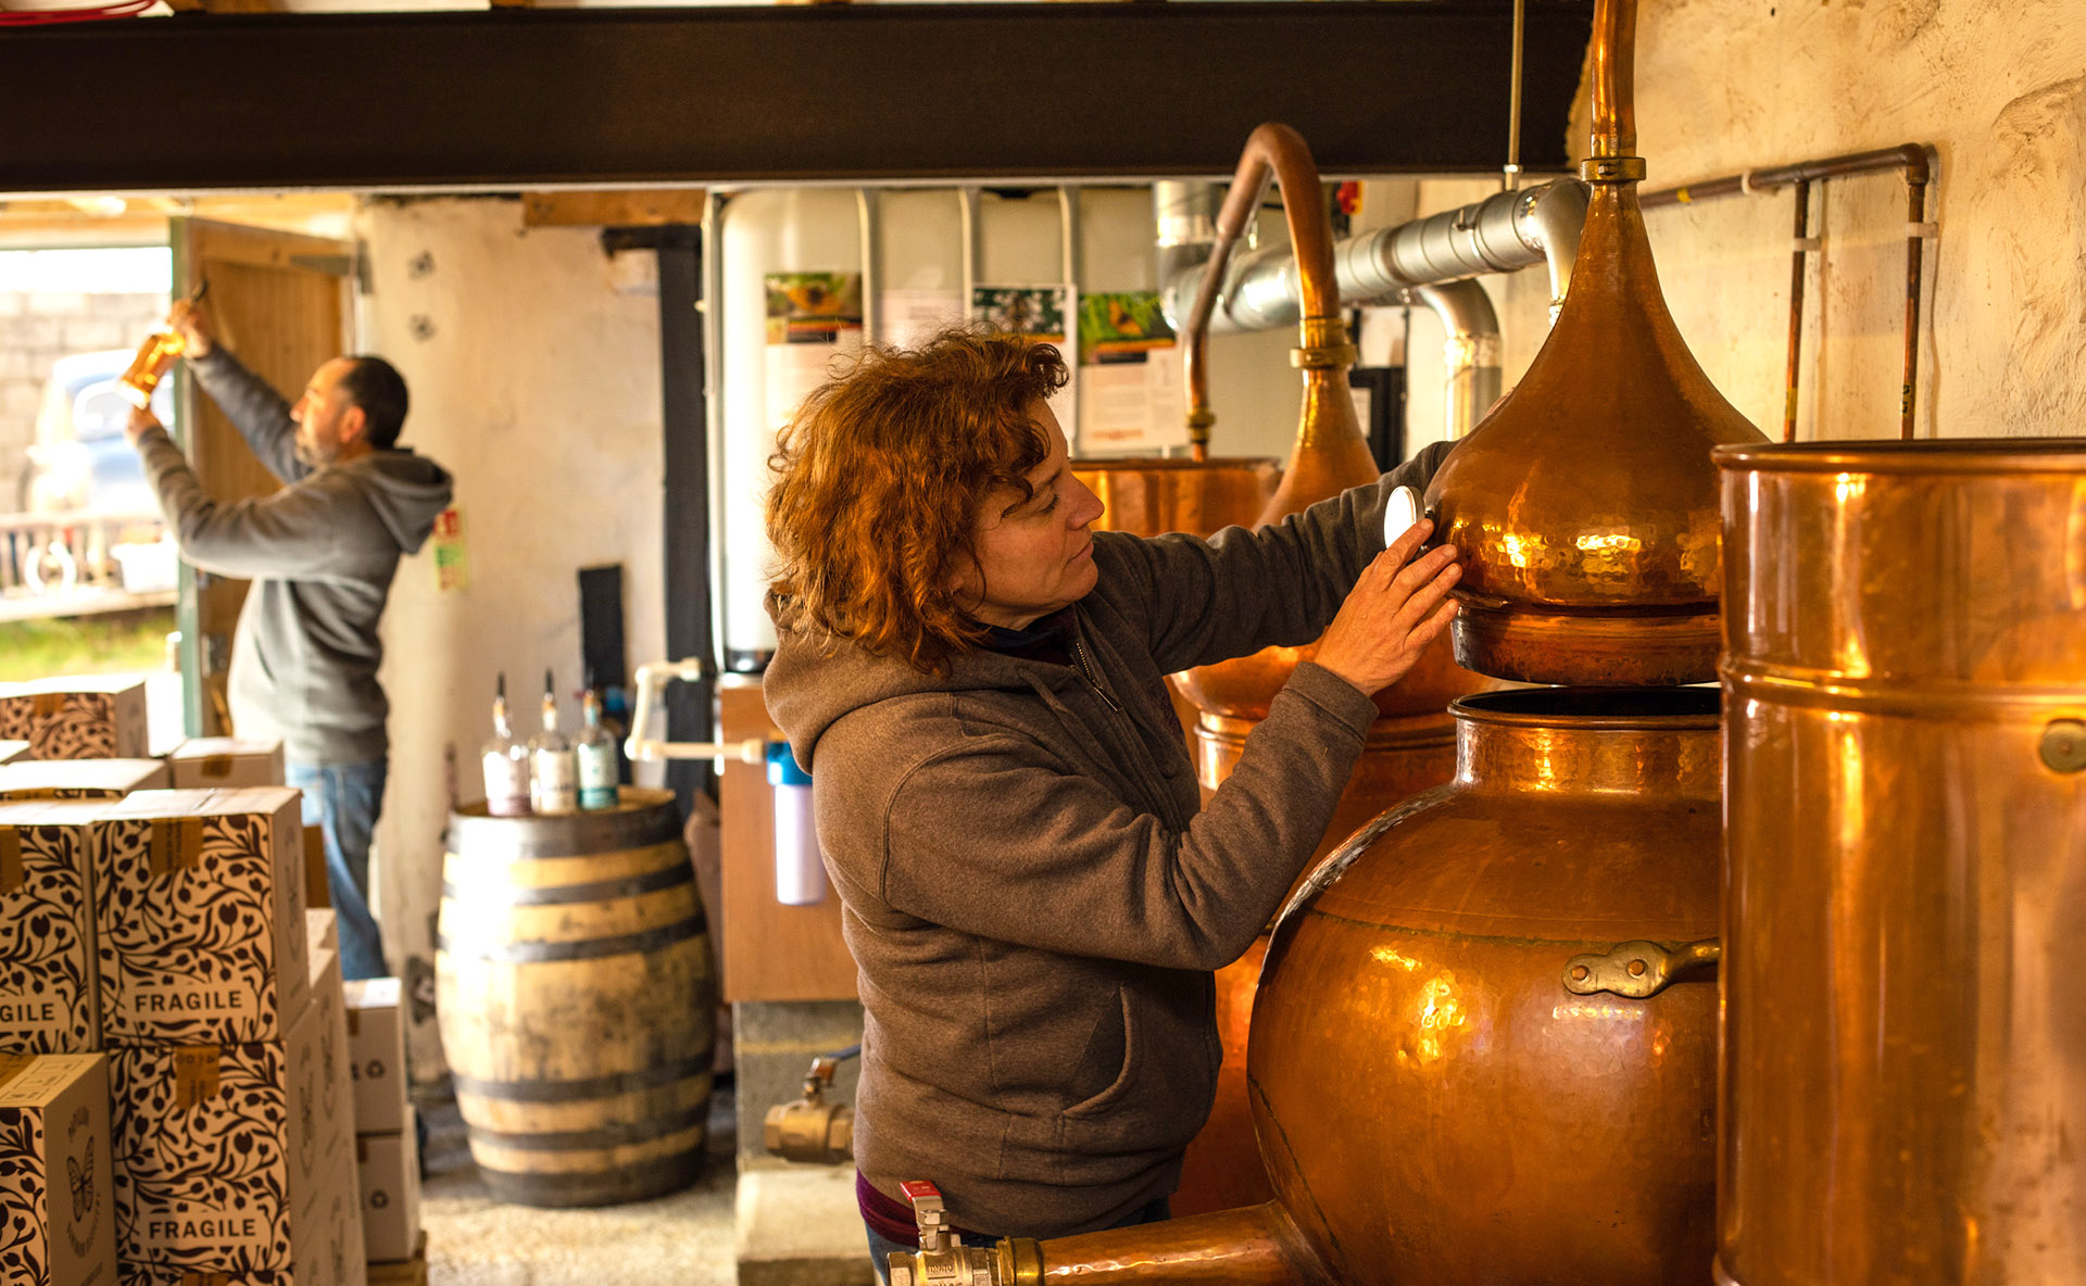
[{"label": "large round copper pot body below the onion-shaped dome", "polygon": [[1717,934],[1717,694],[1494,692],[1456,719],[1456,780],[1275,928],[1247,1073],[1277,1198],[1354,1286],[1704,1282],[1715,975],[1562,978]]}]

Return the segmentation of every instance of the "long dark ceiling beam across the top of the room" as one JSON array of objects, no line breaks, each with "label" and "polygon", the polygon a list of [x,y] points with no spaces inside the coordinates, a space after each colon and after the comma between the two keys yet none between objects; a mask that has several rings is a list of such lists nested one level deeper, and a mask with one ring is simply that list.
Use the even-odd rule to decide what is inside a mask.
[{"label": "long dark ceiling beam across the top of the room", "polygon": [[[1533,0],[1562,169],[1592,0]],[[211,15],[0,40],[0,192],[1329,175],[1506,158],[1504,0]]]}]

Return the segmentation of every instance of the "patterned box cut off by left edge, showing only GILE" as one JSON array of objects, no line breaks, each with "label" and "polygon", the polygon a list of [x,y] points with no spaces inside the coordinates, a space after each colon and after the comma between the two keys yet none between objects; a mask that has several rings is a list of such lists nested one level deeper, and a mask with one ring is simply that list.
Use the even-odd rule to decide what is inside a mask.
[{"label": "patterned box cut off by left edge, showing only GILE", "polygon": [[0,805],[0,1053],[102,1048],[88,890],[104,809]]}]

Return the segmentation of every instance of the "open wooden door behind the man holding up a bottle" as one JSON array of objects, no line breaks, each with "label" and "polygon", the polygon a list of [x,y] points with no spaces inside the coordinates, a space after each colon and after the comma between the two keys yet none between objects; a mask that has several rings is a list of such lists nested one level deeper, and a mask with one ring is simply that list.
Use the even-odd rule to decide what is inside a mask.
[{"label": "open wooden door behind the man holding up a bottle", "polygon": [[[261,227],[173,219],[175,294],[202,300],[217,342],[238,354],[284,398],[296,402],[321,363],[346,350],[348,273],[353,246]],[[181,448],[204,492],[219,502],[265,496],[282,481],[246,448],[246,440],[194,379],[181,377],[175,417]],[[246,602],[246,582],[181,567],[181,686],[188,736],[225,736],[225,667],[232,632]]]}]

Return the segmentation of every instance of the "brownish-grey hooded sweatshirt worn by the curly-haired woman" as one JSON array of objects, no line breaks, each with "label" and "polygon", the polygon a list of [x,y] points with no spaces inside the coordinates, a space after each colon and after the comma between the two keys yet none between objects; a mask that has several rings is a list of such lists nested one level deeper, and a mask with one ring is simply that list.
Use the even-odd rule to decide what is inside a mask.
[{"label": "brownish-grey hooded sweatshirt worn by the curly-haired woman", "polygon": [[1174,1190],[1222,1057],[1212,969],[1316,848],[1377,707],[1297,665],[1204,805],[1164,675],[1323,634],[1383,550],[1387,486],[1425,490],[1444,454],[1260,531],[1095,534],[1072,665],[970,650],[935,677],[770,604],[768,709],[859,969],[872,1184],[932,1180],[999,1236]]}]

